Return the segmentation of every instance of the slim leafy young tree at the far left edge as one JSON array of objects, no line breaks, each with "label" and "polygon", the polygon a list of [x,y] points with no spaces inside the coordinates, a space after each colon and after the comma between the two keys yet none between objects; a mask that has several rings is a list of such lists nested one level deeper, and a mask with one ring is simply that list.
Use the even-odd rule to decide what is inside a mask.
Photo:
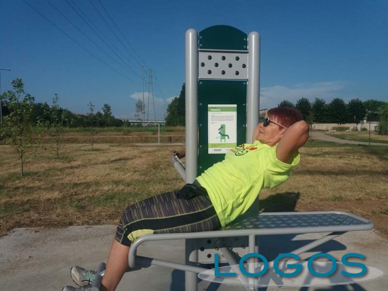
[{"label": "slim leafy young tree at the far left edge", "polygon": [[20,101],[21,94],[25,93],[23,81],[17,78],[11,84],[14,91],[8,90],[1,96],[9,114],[4,116],[0,132],[15,147],[20,159],[20,172],[23,176],[26,155],[32,146],[39,143],[36,127],[33,128],[31,123],[34,97],[25,94]]}]

